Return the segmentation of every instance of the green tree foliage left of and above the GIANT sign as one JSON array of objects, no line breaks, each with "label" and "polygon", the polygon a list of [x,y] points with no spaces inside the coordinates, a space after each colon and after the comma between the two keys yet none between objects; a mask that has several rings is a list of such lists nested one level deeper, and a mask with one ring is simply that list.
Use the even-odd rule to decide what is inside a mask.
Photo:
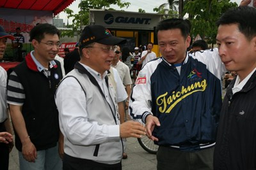
[{"label": "green tree foliage left of and above the GIANT sign", "polygon": [[75,32],[79,34],[81,32],[81,28],[83,25],[89,24],[89,10],[90,9],[106,9],[106,10],[114,10],[110,8],[111,4],[115,4],[120,8],[128,8],[131,3],[122,3],[122,0],[81,0],[79,3],[79,12],[74,14],[74,11],[66,8],[64,10],[67,13],[67,18],[74,18],[72,20],[71,25],[67,25],[68,28],[72,28],[70,31],[62,31],[61,36],[69,36],[72,37]]}]

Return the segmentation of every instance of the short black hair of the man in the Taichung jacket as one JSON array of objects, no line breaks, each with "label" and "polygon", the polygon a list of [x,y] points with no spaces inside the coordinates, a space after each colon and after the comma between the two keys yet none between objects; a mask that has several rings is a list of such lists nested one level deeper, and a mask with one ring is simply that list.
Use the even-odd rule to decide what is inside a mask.
[{"label": "short black hair of the man in the Taichung jacket", "polygon": [[156,34],[158,31],[180,29],[182,36],[187,38],[190,31],[189,23],[188,20],[183,20],[182,18],[168,18],[159,22],[156,27]]}]

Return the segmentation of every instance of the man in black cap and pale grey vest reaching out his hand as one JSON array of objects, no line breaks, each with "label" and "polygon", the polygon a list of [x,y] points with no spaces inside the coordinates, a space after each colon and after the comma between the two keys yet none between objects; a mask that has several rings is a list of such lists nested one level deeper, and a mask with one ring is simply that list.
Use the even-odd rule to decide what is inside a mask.
[{"label": "man in black cap and pale grey vest reaching out his hand", "polygon": [[125,41],[101,25],[83,29],[79,39],[81,60],[56,91],[64,135],[64,170],[122,169],[122,138],[145,134],[139,122],[120,125],[116,90],[107,76],[115,45]]}]

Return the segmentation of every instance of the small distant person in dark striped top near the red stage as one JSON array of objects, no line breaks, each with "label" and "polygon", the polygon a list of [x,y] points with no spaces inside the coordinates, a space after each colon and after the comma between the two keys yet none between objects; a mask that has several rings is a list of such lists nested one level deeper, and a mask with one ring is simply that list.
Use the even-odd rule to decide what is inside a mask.
[{"label": "small distant person in dark striped top near the red stage", "polygon": [[22,43],[25,43],[25,38],[21,34],[20,27],[16,28],[16,33],[13,34],[15,39],[12,41],[12,47],[14,49],[14,60],[15,61],[22,61]]}]

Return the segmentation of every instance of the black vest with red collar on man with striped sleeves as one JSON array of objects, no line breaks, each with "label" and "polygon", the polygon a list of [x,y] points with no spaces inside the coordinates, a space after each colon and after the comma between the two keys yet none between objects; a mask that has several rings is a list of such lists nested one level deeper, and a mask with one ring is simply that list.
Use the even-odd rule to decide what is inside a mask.
[{"label": "black vest with red collar on man with striped sleeves", "polygon": [[[54,61],[57,65],[50,69],[51,76],[49,78],[38,71],[30,53],[26,56],[26,60],[13,69],[24,88],[26,99],[22,106],[22,115],[29,138],[36,150],[45,150],[56,146],[59,138],[60,127],[54,94],[62,79],[62,73],[60,62]],[[15,81],[15,77],[11,75],[10,80]],[[16,133],[15,146],[21,151],[22,144]]]}]

